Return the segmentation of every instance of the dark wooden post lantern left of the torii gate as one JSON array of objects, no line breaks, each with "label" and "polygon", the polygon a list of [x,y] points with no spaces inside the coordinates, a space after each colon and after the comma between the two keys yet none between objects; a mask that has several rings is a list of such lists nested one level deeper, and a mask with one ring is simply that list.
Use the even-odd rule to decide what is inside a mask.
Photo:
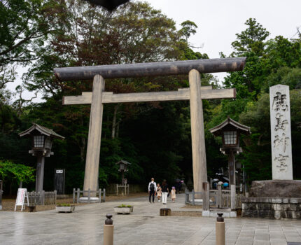
[{"label": "dark wooden post lantern left of the torii gate", "polygon": [[47,127],[43,127],[41,125],[37,125],[33,123],[29,129],[21,132],[20,137],[31,137],[32,146],[31,153],[36,156],[36,192],[43,191],[43,179],[44,179],[44,163],[45,157],[49,157],[53,155],[51,151],[52,141],[53,139],[65,139],[61,135],[57,134],[53,130],[48,129]]}]

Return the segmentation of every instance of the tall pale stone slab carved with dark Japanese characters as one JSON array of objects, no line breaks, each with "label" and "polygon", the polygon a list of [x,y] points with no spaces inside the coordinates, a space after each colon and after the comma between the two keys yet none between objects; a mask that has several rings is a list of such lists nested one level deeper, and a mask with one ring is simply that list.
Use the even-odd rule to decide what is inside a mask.
[{"label": "tall pale stone slab carved with dark Japanese characters", "polygon": [[290,90],[287,85],[269,87],[272,179],[293,179],[290,135]]}]

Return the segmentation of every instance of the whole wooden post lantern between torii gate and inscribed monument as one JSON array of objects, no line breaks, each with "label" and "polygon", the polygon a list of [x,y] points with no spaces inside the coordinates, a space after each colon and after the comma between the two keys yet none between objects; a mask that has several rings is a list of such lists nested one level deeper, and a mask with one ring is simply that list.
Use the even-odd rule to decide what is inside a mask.
[{"label": "whole wooden post lantern between torii gate and inscribed monument", "polygon": [[[235,120],[232,120],[228,117],[223,121],[223,123],[211,128],[209,131],[211,134],[214,134],[215,137],[221,136],[223,139],[223,147],[220,149],[220,151],[223,154],[228,155],[231,195],[235,195],[235,154],[242,152],[241,147],[239,147],[239,135],[251,134],[250,127],[237,123]],[[235,209],[232,204],[232,198],[231,209]]]}]

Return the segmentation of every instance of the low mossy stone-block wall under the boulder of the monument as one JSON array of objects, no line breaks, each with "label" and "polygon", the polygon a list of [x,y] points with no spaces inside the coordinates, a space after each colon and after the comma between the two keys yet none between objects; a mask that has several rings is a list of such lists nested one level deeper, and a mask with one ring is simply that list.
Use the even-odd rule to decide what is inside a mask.
[{"label": "low mossy stone-block wall under the boulder of the monument", "polygon": [[241,216],[251,218],[301,218],[301,198],[241,197]]}]

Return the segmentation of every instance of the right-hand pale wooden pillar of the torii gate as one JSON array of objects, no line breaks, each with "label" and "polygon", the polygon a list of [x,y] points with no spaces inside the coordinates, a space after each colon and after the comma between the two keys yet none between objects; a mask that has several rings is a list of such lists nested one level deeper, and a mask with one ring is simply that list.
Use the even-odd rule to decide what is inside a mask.
[{"label": "right-hand pale wooden pillar of the torii gate", "polygon": [[189,86],[191,143],[193,151],[193,186],[195,192],[202,192],[202,183],[207,181],[207,162],[199,71],[193,69],[189,72]]}]

